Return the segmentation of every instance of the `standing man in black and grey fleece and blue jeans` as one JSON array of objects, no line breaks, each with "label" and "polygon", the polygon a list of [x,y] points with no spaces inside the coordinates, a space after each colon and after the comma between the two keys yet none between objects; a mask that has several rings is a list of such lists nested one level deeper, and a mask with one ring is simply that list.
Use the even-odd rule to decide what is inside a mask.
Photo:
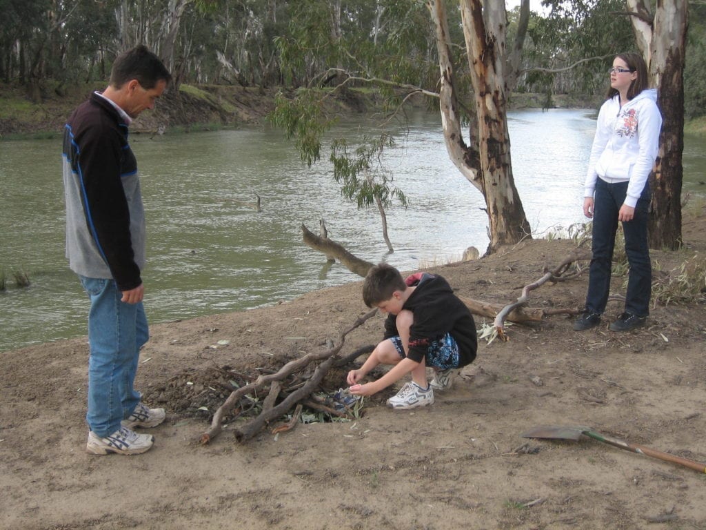
[{"label": "standing man in black and grey fleece and blue jeans", "polygon": [[92,454],[138,454],[154,443],[163,408],[148,408],[133,389],[148,341],[143,308],[145,213],[128,125],[151,109],[172,76],[146,47],[121,54],[109,86],[92,93],[64,129],[66,257],[90,297],[88,443]]}]

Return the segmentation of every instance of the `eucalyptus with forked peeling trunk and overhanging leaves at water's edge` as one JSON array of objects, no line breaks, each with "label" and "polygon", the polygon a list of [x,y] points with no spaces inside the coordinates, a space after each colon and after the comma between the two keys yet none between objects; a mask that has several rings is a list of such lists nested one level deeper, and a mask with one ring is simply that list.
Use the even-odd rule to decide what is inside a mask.
[{"label": "eucalyptus with forked peeling trunk and overhanging leaves at water's edge", "polygon": [[[325,8],[328,2],[306,0],[307,7],[302,8],[301,16],[311,23],[302,25],[299,33],[293,32],[291,42],[280,41],[282,57],[297,60],[285,64],[295,64],[292,72],[307,71],[308,83],[324,78],[315,72],[328,65],[327,81],[335,74],[342,76],[342,84],[346,86],[376,84],[390,94],[395,93],[397,101],[411,94],[438,98],[450,158],[486,201],[489,252],[499,245],[531,237],[513,180],[506,117],[507,83],[515,82],[519,69],[530,16],[529,0],[522,0],[517,38],[509,49],[505,46],[503,0],[460,0],[455,23],[451,25],[443,0],[377,0],[374,9],[371,3],[345,2],[342,8],[346,16],[340,18],[339,26],[335,16],[338,11],[333,11],[331,17],[322,14],[327,12],[325,9],[312,8],[314,4]],[[367,6],[361,12],[369,13],[369,17],[355,16],[356,6]],[[368,30],[347,33],[346,27],[357,27],[355,23]],[[316,53],[319,50],[321,54]],[[467,83],[467,79],[471,82]],[[438,93],[436,86],[440,86]],[[289,115],[295,121],[298,119],[296,113]],[[470,129],[469,143],[462,134],[466,122]],[[299,147],[309,146],[315,161],[325,126],[307,129],[301,127],[299,120],[299,124],[289,126],[289,131],[297,130],[301,133]]]}]

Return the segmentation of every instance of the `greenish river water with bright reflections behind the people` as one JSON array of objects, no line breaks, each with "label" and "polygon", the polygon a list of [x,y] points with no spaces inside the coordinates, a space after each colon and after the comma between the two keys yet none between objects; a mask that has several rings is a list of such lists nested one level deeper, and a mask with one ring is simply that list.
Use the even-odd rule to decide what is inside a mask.
[{"label": "greenish river water with bright reflections behind the people", "polygon": [[[582,181],[595,122],[587,110],[510,112],[515,184],[534,235],[582,222]],[[338,133],[354,141],[364,122]],[[704,141],[687,139],[684,189],[703,192]],[[438,114],[414,117],[407,140],[388,151],[395,184],[409,199],[388,213],[388,256],[375,208],[340,196],[330,164],[302,165],[280,131],[253,127],[156,139],[133,135],[148,216],[145,307],[152,324],[245,310],[361,278],[301,240],[301,223],[368,261],[402,270],[460,259],[488,245],[480,192],[446,153]],[[83,336],[88,299],[64,258],[61,141],[0,142],[0,351]],[[324,158],[328,157],[328,151]],[[238,201],[261,196],[257,213]],[[29,288],[14,284],[25,270]],[[362,302],[361,302],[362,303]]]}]

